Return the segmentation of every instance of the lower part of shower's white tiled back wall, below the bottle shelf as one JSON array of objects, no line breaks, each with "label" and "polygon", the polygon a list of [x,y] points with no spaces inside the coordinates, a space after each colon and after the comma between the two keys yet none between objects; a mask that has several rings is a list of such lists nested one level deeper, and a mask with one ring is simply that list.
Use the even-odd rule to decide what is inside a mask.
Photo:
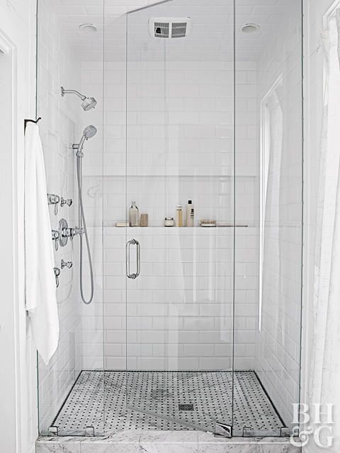
[{"label": "lower part of shower's white tiled back wall, below the bottle shelf", "polygon": [[[247,251],[256,229],[239,230]],[[126,354],[129,369],[231,369],[232,229],[139,227],[128,229],[130,237],[140,241],[142,265],[140,277],[128,280],[125,294],[125,230],[104,229],[106,367],[124,368]],[[251,369],[256,254],[242,253],[242,246],[239,252],[243,258],[236,269],[237,281],[242,282],[236,291],[237,366]],[[133,270],[133,248],[131,262]]]}]

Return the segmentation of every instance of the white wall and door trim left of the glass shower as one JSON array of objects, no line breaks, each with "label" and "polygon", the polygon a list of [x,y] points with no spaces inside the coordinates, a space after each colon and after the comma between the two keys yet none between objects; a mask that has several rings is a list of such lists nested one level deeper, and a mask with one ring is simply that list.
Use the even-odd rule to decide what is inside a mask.
[{"label": "white wall and door trim left of the glass shower", "polygon": [[[35,115],[35,2],[0,1],[1,236],[0,436],[6,452],[34,451],[37,430],[35,352],[26,325],[23,256],[23,122]],[[1,54],[1,52],[0,52]],[[11,71],[6,71],[4,59]],[[5,79],[5,77],[7,78]],[[9,80],[8,80],[9,77]],[[9,94],[8,96],[6,96]]]}]

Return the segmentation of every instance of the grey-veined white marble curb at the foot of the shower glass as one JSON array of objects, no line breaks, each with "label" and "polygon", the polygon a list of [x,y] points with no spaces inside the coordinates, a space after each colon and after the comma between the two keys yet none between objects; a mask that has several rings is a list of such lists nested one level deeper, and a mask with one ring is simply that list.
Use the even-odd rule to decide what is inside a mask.
[{"label": "grey-veined white marble curb at the foot of the shower glass", "polygon": [[289,438],[215,437],[198,431],[123,431],[106,437],[38,437],[35,453],[301,453]]}]

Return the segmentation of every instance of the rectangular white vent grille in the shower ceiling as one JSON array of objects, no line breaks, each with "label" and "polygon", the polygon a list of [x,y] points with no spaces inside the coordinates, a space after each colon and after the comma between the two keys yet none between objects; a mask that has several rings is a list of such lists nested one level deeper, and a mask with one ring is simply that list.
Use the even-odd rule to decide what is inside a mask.
[{"label": "rectangular white vent grille in the shower ceiling", "polygon": [[152,38],[186,38],[191,32],[192,20],[186,18],[149,18],[149,33]]}]

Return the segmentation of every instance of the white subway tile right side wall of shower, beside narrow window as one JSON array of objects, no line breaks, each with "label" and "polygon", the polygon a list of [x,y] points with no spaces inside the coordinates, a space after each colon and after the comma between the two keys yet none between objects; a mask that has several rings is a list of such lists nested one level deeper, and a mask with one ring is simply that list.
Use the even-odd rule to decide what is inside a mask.
[{"label": "white subway tile right side wall of shower, beside narrow window", "polygon": [[285,423],[293,422],[299,401],[302,274],[302,54],[301,4],[290,16],[258,66],[259,101],[279,76],[276,90],[283,113],[283,147],[278,193],[265,224],[261,331],[256,341],[256,371]]}]

